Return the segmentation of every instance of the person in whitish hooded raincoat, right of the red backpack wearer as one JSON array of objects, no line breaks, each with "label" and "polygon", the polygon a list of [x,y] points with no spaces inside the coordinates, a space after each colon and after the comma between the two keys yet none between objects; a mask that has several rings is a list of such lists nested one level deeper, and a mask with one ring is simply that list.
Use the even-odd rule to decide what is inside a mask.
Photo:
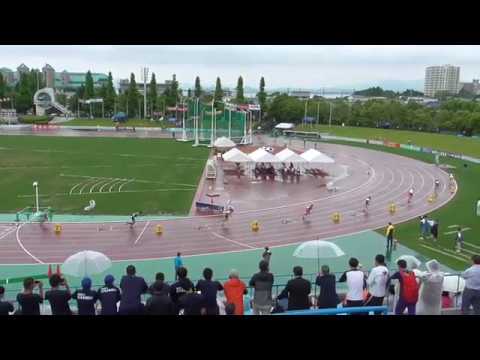
[{"label": "person in whitish hooded raincoat, right of the red backpack wearer", "polygon": [[427,272],[420,276],[420,297],[417,304],[418,315],[440,315],[442,311],[443,273],[437,260],[426,264]]}]

